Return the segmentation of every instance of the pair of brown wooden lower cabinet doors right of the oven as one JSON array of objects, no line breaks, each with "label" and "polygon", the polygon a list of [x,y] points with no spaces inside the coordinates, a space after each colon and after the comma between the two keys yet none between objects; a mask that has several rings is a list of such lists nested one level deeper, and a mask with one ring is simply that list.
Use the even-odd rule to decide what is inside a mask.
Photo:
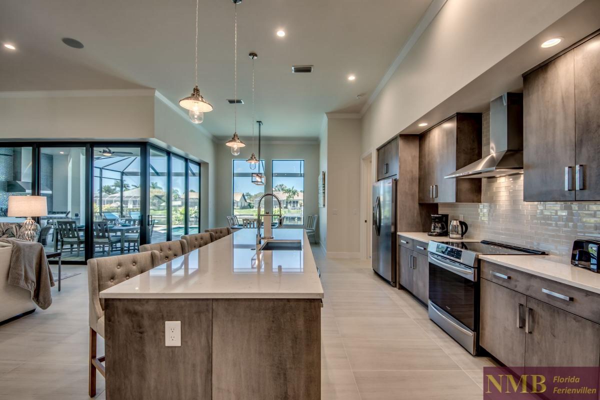
[{"label": "pair of brown wooden lower cabinet doors right of the oven", "polygon": [[600,366],[600,325],[481,279],[479,344],[506,366]]}]

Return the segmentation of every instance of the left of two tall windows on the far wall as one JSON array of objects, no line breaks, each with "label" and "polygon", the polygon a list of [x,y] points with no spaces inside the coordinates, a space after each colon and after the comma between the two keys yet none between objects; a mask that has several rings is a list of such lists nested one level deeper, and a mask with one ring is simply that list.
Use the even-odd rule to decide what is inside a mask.
[{"label": "left of two tall windows on the far wall", "polygon": [[[265,170],[265,160],[260,160],[260,170]],[[257,169],[251,170],[246,160],[233,160],[232,209],[240,223],[244,218],[256,218],[258,200],[265,194],[264,186],[251,182],[253,172],[257,172]]]}]

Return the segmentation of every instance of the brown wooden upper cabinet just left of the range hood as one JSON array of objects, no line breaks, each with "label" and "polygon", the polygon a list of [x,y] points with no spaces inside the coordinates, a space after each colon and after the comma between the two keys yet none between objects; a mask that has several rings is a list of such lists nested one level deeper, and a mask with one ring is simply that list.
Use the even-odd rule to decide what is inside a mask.
[{"label": "brown wooden upper cabinet just left of the range hood", "polygon": [[481,179],[445,179],[481,158],[481,113],[457,113],[421,135],[420,203],[479,203]]}]

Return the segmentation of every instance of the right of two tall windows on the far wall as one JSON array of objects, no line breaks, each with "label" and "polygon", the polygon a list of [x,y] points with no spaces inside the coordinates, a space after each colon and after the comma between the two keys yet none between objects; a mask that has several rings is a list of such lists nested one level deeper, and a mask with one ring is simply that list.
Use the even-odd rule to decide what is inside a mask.
[{"label": "right of two tall windows on the far wall", "polygon": [[304,160],[273,160],[272,174],[273,193],[283,206],[283,224],[304,225]]}]

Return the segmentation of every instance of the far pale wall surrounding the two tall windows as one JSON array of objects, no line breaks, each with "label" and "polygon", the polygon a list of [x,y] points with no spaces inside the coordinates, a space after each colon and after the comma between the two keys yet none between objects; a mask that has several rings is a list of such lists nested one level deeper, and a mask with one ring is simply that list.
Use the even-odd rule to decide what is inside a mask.
[{"label": "far pale wall surrounding the two tall windows", "polygon": [[[231,154],[230,148],[224,142],[216,143],[217,173],[215,177],[218,199],[216,204],[215,226],[227,226],[227,216],[232,214],[232,160],[248,160],[251,149],[251,136],[241,138],[247,146],[241,148],[238,156]],[[258,140],[256,139],[258,147]],[[272,160],[304,160],[304,216],[319,213],[317,204],[317,178],[319,175],[319,144],[318,143],[262,143],[260,157],[265,160],[265,192],[271,191],[271,161]],[[259,157],[258,151],[255,151]],[[250,179],[250,178],[248,178]],[[269,198],[266,198],[268,210],[271,209]],[[319,232],[317,232],[317,235]]]}]

